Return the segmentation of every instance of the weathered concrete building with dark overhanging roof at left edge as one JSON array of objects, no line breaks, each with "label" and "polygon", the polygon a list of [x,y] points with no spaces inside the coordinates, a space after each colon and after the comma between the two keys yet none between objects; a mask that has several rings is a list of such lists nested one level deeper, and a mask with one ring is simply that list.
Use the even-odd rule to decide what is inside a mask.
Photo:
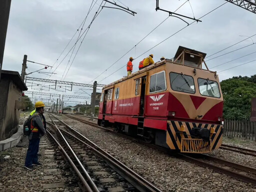
[{"label": "weathered concrete building with dark overhanging roof at left edge", "polygon": [[0,77],[0,140],[18,129],[19,112],[24,108],[21,94],[27,87],[17,71],[2,70]]}]

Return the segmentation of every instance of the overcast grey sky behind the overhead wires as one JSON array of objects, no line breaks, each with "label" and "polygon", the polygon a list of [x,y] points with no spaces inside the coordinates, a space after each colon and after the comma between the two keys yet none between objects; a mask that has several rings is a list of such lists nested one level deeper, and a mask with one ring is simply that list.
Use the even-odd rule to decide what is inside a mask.
[{"label": "overcast grey sky behind the overhead wires", "polygon": [[[85,31],[98,9],[101,0],[94,0],[96,4],[89,12],[82,30],[79,26],[88,12],[91,0],[12,0],[2,68],[20,72],[23,55],[27,54],[28,60],[48,65],[53,65],[55,63],[52,70],[48,68],[42,71],[50,72],[55,70],[57,74],[53,74],[50,79],[63,80],[66,75],[66,73],[64,73],[66,65],[68,64],[68,69],[77,48],[81,44],[64,80],[89,84],[92,84],[92,81],[97,80],[98,83],[107,84],[126,75],[126,67],[122,67],[115,73],[113,72],[125,65],[130,56],[134,58],[137,57],[133,61],[134,72],[138,69],[139,61],[150,53],[153,53],[154,61],[159,60],[161,56],[172,58],[178,46],[182,45],[211,55],[235,42],[247,38],[246,36],[256,34],[256,14],[227,2],[220,8],[202,17],[202,22],[195,22],[187,26],[180,32],[152,48],[154,45],[187,24],[178,18],[168,17],[152,33],[137,44],[147,33],[162,22],[168,16],[168,13],[160,10],[155,11],[155,0],[115,1],[122,6],[125,4],[130,10],[137,12],[137,14],[132,16],[118,9],[103,8],[92,22],[86,36],[81,37],[81,39],[84,37],[82,43],[81,39],[78,40],[75,49],[71,54],[72,46],[74,45],[79,32],[81,31],[81,33],[83,33]],[[224,0],[189,1],[195,18],[201,17],[205,13],[226,2]],[[159,7],[174,11],[184,2],[185,4],[177,10],[177,13],[193,17],[191,7],[186,0],[159,0]],[[105,6],[113,5],[106,3]],[[190,19],[185,20],[188,23],[193,21]],[[74,38],[63,51],[73,35]],[[256,42],[256,35],[206,58],[206,64],[211,68],[215,65],[252,53],[256,51],[256,43],[252,44],[252,42]],[[133,48],[118,62],[107,69],[135,44],[137,44],[136,48]],[[208,60],[246,45],[248,46],[240,50]],[[152,49],[145,52],[150,48]],[[69,50],[70,52],[68,53]],[[61,54],[62,51],[63,53]],[[212,70],[221,71],[232,66],[249,62],[255,59],[255,55],[256,53],[252,53],[248,56],[212,68]],[[65,59],[63,59],[64,56],[66,56]],[[59,59],[55,62],[58,57]],[[69,58],[70,61],[68,62]],[[61,62],[62,59],[63,61]],[[253,75],[256,73],[255,63],[256,61],[253,61],[219,72],[219,78],[220,80],[223,80],[237,75]],[[27,66],[27,73],[42,68],[41,65],[30,62],[27,63]],[[56,68],[56,66],[58,67]],[[67,71],[67,69],[65,71]],[[100,73],[102,74],[98,76]],[[110,76],[107,77],[108,75]],[[47,75],[39,74],[37,72],[28,76],[48,78]],[[94,79],[96,76],[98,77]],[[36,83],[42,84],[42,82]],[[44,85],[49,84],[46,83]],[[74,87],[74,91],[72,92],[54,90],[51,90],[50,92],[86,96],[87,94],[79,90],[79,88],[82,87]],[[46,89],[46,87],[44,87],[44,89]],[[38,91],[36,89],[30,90]],[[60,90],[63,89],[60,88]],[[47,90],[42,91],[47,92]],[[91,93],[91,90],[85,91],[88,94]]]}]

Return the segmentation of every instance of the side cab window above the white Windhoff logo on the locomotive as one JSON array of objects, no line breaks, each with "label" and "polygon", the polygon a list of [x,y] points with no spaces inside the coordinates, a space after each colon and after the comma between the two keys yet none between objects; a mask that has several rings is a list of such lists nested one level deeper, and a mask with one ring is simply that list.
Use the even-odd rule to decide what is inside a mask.
[{"label": "side cab window above the white Windhoff logo on the locomotive", "polygon": [[164,71],[150,76],[149,92],[160,92],[166,89],[166,80]]}]

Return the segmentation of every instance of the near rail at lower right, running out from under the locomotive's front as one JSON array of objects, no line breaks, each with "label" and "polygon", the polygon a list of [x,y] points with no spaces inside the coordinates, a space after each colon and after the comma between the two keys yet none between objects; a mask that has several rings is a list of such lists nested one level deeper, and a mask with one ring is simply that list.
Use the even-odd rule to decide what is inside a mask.
[{"label": "near rail at lower right, running out from under the locomotive's front", "polygon": [[251,183],[253,185],[256,185],[256,179],[253,178],[253,177],[249,177],[249,176],[240,174],[238,172],[235,172],[235,171],[223,168],[223,167],[219,167],[217,165],[214,165],[214,164],[211,164],[211,163],[208,163],[208,162],[204,162],[203,160],[199,160],[199,159],[190,157],[190,156],[185,155],[185,154],[179,153],[179,156],[181,156],[182,159],[184,159],[186,161],[189,161],[189,162],[192,162],[194,164],[197,164],[199,166],[208,167],[210,169],[213,169],[216,172],[224,173],[224,174],[226,174],[228,176],[237,178],[237,179],[239,179],[241,181],[248,182],[248,183]]}]

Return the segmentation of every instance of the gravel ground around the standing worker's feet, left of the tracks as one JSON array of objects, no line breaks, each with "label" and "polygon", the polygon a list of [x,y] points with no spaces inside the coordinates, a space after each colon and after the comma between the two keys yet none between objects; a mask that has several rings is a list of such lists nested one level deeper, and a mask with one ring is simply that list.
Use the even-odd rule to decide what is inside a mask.
[{"label": "gravel ground around the standing worker's feet, left of the tracks", "polygon": [[[25,118],[21,118],[20,122]],[[24,138],[26,140],[27,138]],[[48,139],[46,135],[40,141],[39,146],[39,161],[43,163],[43,166],[34,166],[35,169],[32,171],[26,170],[24,166],[25,155],[27,151],[27,144],[23,147],[13,147],[5,151],[0,152],[0,157],[9,155],[11,158],[5,162],[0,161],[0,191],[4,192],[13,192],[13,191],[80,191],[74,183],[77,182],[76,176],[73,176],[73,173],[69,170],[69,164],[66,163],[63,159],[55,160],[46,159],[44,157],[45,150],[47,147],[44,147],[42,141],[45,140],[47,143]],[[55,155],[60,156],[58,151],[55,152]],[[46,163],[57,163],[56,165],[46,165]],[[57,168],[55,172],[45,172],[46,168]],[[53,179],[43,179],[45,175],[53,175]],[[67,176],[66,176],[67,175]],[[50,189],[43,189],[44,183],[56,183],[56,182],[65,182],[67,186],[57,187]]]}]

